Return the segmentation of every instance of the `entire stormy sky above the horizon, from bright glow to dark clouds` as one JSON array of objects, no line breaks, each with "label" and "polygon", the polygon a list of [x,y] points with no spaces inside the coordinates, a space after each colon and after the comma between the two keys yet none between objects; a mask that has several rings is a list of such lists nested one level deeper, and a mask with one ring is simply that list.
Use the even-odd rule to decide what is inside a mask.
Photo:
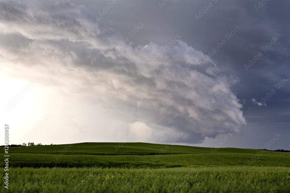
[{"label": "entire stormy sky above the horizon, from bright glow to dark clouds", "polygon": [[10,144],[290,149],[289,1],[3,0],[0,12]]}]

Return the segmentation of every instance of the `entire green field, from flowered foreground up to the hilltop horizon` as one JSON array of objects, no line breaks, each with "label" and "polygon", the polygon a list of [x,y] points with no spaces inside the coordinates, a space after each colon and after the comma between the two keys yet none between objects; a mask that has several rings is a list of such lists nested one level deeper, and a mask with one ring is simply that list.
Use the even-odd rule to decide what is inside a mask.
[{"label": "entire green field, from flowered foreground up to the hilltop horizon", "polygon": [[1,192],[290,192],[289,152],[80,143],[10,147],[9,155]]}]

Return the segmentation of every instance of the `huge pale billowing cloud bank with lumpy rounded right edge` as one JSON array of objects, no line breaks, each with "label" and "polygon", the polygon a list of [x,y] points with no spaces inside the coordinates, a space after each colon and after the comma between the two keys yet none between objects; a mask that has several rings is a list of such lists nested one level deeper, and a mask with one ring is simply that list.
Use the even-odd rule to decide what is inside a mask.
[{"label": "huge pale billowing cloud bank with lumpy rounded right edge", "polygon": [[84,6],[37,1],[15,7],[1,15],[0,33],[14,41],[2,42],[0,55],[5,68],[23,69],[10,78],[41,77],[39,85],[51,89],[46,102],[58,105],[47,108],[63,117],[54,128],[61,125],[69,138],[59,143],[70,142],[77,133],[70,129],[82,126],[89,134],[80,140],[121,141],[141,119],[145,125],[128,142],[168,143],[183,131],[177,142],[200,143],[246,124],[242,104],[226,86],[236,80],[218,75],[215,61],[179,34],[174,45],[120,47],[123,37]]}]

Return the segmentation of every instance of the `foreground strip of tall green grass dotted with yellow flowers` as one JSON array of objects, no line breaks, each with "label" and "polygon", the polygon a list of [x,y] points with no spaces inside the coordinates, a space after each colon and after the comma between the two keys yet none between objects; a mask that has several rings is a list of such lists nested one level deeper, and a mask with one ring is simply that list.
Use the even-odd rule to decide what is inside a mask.
[{"label": "foreground strip of tall green grass dotted with yellow flowers", "polygon": [[[13,168],[10,192],[289,192],[289,167]],[[2,180],[3,181],[3,180]],[[3,190],[3,184],[1,185]]]}]

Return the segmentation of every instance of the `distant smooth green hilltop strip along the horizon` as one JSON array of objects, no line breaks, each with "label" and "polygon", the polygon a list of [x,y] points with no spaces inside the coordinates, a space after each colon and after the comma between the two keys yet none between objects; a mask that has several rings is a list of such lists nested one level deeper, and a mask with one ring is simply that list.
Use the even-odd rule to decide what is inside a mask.
[{"label": "distant smooth green hilltop strip along the horizon", "polygon": [[79,143],[65,145],[20,146],[10,147],[13,153],[37,154],[81,154],[81,155],[155,155],[155,154],[188,154],[188,153],[247,153],[256,154],[262,151],[268,155],[288,155],[287,152],[273,152],[240,148],[204,148],[180,145],[163,145],[149,143]]}]

